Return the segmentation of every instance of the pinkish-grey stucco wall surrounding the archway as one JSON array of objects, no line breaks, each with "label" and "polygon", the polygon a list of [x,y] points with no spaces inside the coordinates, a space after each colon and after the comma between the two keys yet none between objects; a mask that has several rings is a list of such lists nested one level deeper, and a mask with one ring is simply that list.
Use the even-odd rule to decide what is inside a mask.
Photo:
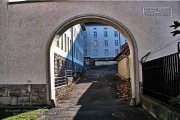
[{"label": "pinkish-grey stucco wall surrounding the archway", "polygon": [[[53,31],[65,20],[81,14],[101,14],[124,24],[138,46],[138,58],[178,37],[171,36],[169,26],[179,18],[178,1],[107,1],[107,2],[43,2],[12,4],[0,16],[1,84],[46,83],[47,44]],[[143,16],[143,7],[171,7],[172,17]],[[4,7],[0,7],[4,9]],[[1,11],[1,10],[0,10]],[[4,11],[6,12],[6,11]],[[6,21],[8,34],[6,34]],[[7,37],[7,39],[6,39]],[[149,56],[154,59],[177,51],[177,45]],[[141,80],[140,80],[141,81]]]}]

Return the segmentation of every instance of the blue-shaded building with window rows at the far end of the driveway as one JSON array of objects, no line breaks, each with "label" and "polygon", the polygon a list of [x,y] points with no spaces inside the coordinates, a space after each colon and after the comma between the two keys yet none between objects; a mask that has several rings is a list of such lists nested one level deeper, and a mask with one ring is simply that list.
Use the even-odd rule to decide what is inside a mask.
[{"label": "blue-shaded building with window rows at the far end of the driveway", "polygon": [[115,28],[101,23],[85,23],[84,57],[86,64],[114,64],[124,37]]}]

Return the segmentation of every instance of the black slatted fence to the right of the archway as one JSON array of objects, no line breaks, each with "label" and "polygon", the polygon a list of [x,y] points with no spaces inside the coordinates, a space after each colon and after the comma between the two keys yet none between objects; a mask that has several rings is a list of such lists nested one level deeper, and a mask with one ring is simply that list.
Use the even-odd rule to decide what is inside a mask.
[{"label": "black slatted fence to the right of the archway", "polygon": [[143,94],[165,104],[180,94],[180,53],[142,63]]}]

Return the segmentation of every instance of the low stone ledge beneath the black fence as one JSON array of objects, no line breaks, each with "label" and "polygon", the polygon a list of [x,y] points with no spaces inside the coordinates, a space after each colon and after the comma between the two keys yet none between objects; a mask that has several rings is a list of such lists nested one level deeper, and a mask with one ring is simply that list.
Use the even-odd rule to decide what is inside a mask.
[{"label": "low stone ledge beneath the black fence", "polygon": [[149,96],[141,95],[141,106],[157,120],[180,120],[179,113]]}]

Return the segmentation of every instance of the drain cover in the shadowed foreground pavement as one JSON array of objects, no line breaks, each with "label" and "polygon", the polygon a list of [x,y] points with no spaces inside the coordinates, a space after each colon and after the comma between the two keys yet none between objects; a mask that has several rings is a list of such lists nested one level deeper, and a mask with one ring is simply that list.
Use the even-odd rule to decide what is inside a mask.
[{"label": "drain cover in the shadowed foreground pavement", "polygon": [[112,113],[112,116],[125,120],[132,119],[134,117],[134,115],[130,112],[114,112]]}]

